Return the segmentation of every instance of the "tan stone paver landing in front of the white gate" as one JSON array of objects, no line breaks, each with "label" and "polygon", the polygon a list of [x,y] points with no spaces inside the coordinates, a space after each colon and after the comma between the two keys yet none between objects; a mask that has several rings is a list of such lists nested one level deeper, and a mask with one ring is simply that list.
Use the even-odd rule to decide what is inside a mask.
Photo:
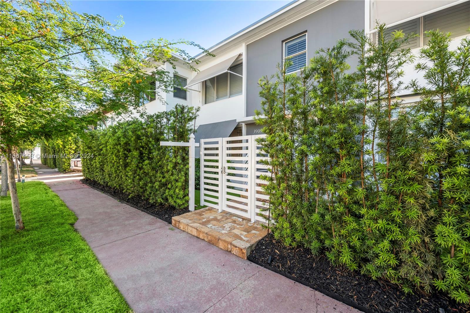
[{"label": "tan stone paver landing in front of the white gate", "polygon": [[172,225],[245,260],[267,234],[258,221],[210,207],[175,216]]}]

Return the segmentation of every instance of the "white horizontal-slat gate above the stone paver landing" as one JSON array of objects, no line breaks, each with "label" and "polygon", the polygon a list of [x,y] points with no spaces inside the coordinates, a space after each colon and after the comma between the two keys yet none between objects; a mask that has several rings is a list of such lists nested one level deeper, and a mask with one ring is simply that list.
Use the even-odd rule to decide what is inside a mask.
[{"label": "white horizontal-slat gate above the stone paver landing", "polygon": [[262,155],[257,138],[265,135],[202,139],[200,142],[201,204],[232,212],[251,221],[262,220],[260,208],[269,196],[262,191],[267,174],[260,164]]}]

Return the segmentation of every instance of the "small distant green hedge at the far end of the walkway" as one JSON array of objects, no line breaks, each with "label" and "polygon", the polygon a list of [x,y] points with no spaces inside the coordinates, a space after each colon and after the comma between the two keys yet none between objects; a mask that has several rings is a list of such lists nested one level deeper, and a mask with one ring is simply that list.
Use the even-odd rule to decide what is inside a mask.
[{"label": "small distant green hedge at the far end of the walkway", "polygon": [[41,144],[41,163],[56,168],[59,172],[70,172],[70,160],[77,154],[78,137],[43,141]]}]

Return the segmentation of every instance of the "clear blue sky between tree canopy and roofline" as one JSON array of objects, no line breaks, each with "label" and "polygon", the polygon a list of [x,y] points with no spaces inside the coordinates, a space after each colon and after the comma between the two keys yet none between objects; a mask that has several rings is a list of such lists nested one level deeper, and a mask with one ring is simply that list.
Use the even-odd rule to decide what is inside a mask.
[{"label": "clear blue sky between tree canopy and roofline", "polygon": [[[123,16],[117,35],[140,43],[152,38],[187,39],[205,48],[241,30],[290,1],[71,1],[79,13],[109,21]],[[199,51],[186,49],[191,55]]]}]

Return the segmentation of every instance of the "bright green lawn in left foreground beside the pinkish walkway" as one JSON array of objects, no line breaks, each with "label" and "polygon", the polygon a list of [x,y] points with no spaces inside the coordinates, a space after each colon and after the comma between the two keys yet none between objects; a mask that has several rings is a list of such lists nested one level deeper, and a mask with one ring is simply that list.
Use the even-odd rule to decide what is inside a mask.
[{"label": "bright green lawn in left foreground beside the pinkish walkway", "polygon": [[23,231],[10,197],[0,198],[0,312],[130,312],[73,228],[75,214],[43,182],[20,185]]}]

